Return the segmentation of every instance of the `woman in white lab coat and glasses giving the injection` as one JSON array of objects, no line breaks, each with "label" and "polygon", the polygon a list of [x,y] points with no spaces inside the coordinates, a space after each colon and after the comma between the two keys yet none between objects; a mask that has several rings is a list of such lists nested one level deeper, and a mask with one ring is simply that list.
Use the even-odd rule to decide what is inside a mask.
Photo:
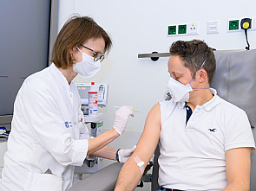
[{"label": "woman in white lab coat and glasses giving the injection", "polygon": [[[82,124],[81,99],[72,81],[77,73],[90,77],[101,68],[112,42],[92,18],[74,16],[56,38],[52,64],[23,82],[14,104],[14,115],[4,155],[3,190],[67,190],[75,166],[87,155],[125,162],[133,152],[106,146],[125,131],[130,106],[115,112],[111,130],[93,139]],[[116,155],[117,153],[117,155]]]}]

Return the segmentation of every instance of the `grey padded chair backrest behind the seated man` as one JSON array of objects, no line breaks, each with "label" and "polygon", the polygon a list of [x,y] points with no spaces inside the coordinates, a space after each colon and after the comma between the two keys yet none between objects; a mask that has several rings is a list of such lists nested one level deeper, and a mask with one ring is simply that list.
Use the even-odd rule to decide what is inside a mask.
[{"label": "grey padded chair backrest behind the seated man", "polygon": [[[211,87],[220,98],[237,105],[249,118],[256,140],[256,49],[245,51],[215,51],[216,73]],[[158,190],[159,147],[154,151],[151,190]],[[251,191],[256,190],[256,154],[251,155]]]}]

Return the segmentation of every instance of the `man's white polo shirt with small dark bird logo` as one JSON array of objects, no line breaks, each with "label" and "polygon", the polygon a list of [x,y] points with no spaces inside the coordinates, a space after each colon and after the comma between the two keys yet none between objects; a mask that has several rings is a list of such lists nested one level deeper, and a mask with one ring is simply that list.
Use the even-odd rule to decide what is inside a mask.
[{"label": "man's white polo shirt with small dark bird logo", "polygon": [[181,190],[226,188],[226,150],[255,149],[246,112],[214,97],[196,106],[187,121],[185,102],[160,102],[159,184]]}]

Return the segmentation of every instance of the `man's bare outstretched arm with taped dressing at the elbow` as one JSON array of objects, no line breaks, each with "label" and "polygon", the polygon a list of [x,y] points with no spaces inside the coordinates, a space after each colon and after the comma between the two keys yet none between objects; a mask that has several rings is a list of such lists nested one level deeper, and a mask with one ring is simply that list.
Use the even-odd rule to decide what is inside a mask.
[{"label": "man's bare outstretched arm with taped dressing at the elbow", "polygon": [[137,143],[137,147],[132,156],[121,168],[115,185],[115,191],[134,190],[137,183],[141,180],[141,169],[136,165],[134,158],[138,156],[144,162],[146,168],[150,158],[159,141],[161,132],[161,111],[160,104],[154,105],[148,112],[144,131]]}]

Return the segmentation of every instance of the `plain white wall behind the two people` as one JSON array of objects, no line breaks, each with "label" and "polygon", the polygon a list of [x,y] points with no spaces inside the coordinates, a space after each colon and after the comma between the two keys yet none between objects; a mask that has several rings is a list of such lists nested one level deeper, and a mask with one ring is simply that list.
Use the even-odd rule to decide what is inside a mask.
[{"label": "plain white wall behind the two people", "polygon": [[[104,128],[114,123],[113,105],[132,105],[136,114],[130,118],[127,131],[112,145],[130,147],[136,143],[143,131],[148,111],[163,100],[168,80],[167,58],[157,61],[138,59],[138,54],[153,51],[167,52],[176,40],[204,40],[218,50],[244,49],[246,39],[243,32],[227,33],[228,19],[256,18],[255,0],[60,0],[59,29],[73,13],[92,16],[114,41],[114,47],[102,70],[90,79],[77,77],[75,82],[108,83],[108,107],[104,112]],[[207,21],[219,21],[220,34],[207,35]],[[167,37],[167,25],[199,23],[199,35]],[[251,48],[256,48],[256,31],[248,31]],[[130,140],[131,139],[131,140]]]}]

